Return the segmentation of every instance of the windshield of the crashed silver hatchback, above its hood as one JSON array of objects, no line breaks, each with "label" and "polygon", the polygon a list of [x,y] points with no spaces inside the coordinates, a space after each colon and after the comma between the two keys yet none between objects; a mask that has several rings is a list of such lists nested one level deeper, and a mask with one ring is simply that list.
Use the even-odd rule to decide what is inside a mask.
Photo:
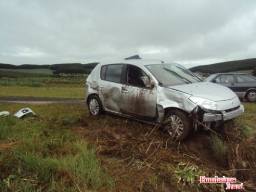
[{"label": "windshield of the crashed silver hatchback, above its hood", "polygon": [[194,73],[177,63],[162,63],[145,66],[159,81],[161,86],[177,86],[202,82]]}]

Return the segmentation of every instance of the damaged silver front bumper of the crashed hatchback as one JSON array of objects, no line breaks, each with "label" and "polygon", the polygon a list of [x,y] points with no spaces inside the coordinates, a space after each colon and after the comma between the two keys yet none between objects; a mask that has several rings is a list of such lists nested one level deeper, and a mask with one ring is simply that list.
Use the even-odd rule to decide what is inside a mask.
[{"label": "damaged silver front bumper of the crashed hatchback", "polygon": [[228,111],[228,112],[221,111],[220,114],[205,113],[203,115],[203,122],[226,121],[242,115],[243,112],[244,112],[244,106],[241,104],[238,109],[233,111]]}]

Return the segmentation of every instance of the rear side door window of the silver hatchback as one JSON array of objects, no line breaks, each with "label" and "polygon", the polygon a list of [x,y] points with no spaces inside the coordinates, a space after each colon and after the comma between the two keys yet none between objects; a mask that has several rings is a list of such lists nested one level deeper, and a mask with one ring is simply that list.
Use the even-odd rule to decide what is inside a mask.
[{"label": "rear side door window of the silver hatchback", "polygon": [[102,66],[100,71],[100,78],[102,80],[120,83],[122,67],[122,64]]}]

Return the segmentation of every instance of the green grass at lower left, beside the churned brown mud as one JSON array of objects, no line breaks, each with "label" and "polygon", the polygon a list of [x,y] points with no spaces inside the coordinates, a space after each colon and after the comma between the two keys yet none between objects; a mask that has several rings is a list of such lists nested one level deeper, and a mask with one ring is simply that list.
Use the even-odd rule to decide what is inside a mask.
[{"label": "green grass at lower left, beside the churned brown mud", "polygon": [[[0,117],[0,191],[111,190],[95,148],[72,132],[84,106],[56,104],[58,110],[49,111],[53,105],[31,106],[37,117]],[[1,104],[11,113],[23,107]],[[75,120],[67,126],[62,119],[70,116]]]}]

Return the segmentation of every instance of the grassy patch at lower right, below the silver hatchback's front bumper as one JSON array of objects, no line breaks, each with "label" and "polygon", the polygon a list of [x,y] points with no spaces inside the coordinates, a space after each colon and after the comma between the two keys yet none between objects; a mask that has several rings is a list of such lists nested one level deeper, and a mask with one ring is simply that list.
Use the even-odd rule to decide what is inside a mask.
[{"label": "grassy patch at lower right, below the silver hatchback's front bumper", "polygon": [[255,104],[244,105],[242,116],[227,123],[219,135],[212,134],[208,140],[219,165],[226,165],[222,174],[243,182],[245,191],[255,191],[256,109]]}]

